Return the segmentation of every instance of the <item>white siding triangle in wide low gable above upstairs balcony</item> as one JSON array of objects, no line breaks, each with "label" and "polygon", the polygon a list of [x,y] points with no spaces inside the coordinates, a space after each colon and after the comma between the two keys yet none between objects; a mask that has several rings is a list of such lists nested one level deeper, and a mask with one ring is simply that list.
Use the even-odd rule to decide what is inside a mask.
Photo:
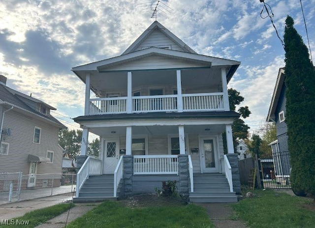
[{"label": "white siding triangle in wide low gable above upstairs balcony", "polygon": [[[152,55],[139,60],[131,61],[125,64],[106,68],[104,70],[138,70],[138,69],[170,69],[170,68],[187,68],[203,67],[202,65],[184,60],[166,58],[158,55]],[[103,69],[100,69],[103,70]]]}]

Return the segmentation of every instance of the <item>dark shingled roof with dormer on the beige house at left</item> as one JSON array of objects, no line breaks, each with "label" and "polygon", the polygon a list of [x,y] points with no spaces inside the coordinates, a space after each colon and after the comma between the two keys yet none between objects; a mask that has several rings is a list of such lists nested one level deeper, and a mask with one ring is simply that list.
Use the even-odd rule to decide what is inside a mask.
[{"label": "dark shingled roof with dormer on the beige house at left", "polygon": [[32,108],[26,102],[24,102],[23,99],[28,99],[34,103],[42,103],[42,104],[45,104],[49,109],[57,110],[56,108],[44,103],[43,101],[41,101],[39,99],[29,97],[25,94],[22,94],[21,92],[18,92],[16,90],[13,90],[7,86],[0,84],[0,104],[7,104],[10,106],[14,106],[16,108],[22,109],[22,110],[27,111],[29,113],[35,114],[35,115],[37,115],[43,119],[46,119],[50,122],[53,122],[53,123],[59,125],[61,128],[66,128],[61,122],[59,122],[52,115],[42,114],[41,112]]}]

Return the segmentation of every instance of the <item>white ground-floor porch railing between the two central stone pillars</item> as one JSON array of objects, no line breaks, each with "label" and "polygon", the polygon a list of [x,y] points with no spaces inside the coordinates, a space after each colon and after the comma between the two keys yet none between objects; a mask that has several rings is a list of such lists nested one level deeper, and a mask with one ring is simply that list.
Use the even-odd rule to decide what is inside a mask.
[{"label": "white ground-floor porch railing between the two central stone pillars", "polygon": [[177,155],[135,155],[133,174],[177,174]]}]

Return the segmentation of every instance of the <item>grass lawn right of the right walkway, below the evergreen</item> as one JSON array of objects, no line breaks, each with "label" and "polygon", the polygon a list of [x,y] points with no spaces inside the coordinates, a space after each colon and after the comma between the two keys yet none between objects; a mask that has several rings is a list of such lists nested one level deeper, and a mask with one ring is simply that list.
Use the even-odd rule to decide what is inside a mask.
[{"label": "grass lawn right of the right walkway, below the evergreen", "polygon": [[309,199],[273,190],[231,205],[237,218],[251,228],[315,228],[315,205]]}]

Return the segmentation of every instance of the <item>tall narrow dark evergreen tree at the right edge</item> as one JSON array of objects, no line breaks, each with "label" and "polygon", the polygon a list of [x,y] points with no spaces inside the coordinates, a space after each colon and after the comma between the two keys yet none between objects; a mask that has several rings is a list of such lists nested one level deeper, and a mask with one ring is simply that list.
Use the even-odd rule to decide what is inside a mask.
[{"label": "tall narrow dark evergreen tree at the right edge", "polygon": [[285,20],[285,85],[290,181],[294,192],[315,195],[315,73],[308,48]]}]

